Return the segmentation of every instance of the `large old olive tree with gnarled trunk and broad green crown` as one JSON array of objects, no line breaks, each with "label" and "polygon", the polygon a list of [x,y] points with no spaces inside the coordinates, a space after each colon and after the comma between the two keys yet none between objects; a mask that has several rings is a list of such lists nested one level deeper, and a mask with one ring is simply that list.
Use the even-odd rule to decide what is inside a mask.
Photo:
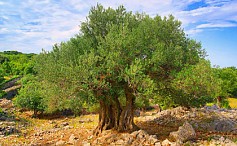
[{"label": "large old olive tree with gnarled trunk and broad green crown", "polygon": [[151,18],[127,12],[123,6],[97,5],[82,23],[80,34],[42,52],[36,69],[51,88],[63,91],[57,101],[77,97],[100,104],[98,134],[104,129],[136,129],[136,99],[166,98],[179,73],[189,66],[192,71],[204,57],[200,43],[186,38],[181,22],[173,16]]}]

